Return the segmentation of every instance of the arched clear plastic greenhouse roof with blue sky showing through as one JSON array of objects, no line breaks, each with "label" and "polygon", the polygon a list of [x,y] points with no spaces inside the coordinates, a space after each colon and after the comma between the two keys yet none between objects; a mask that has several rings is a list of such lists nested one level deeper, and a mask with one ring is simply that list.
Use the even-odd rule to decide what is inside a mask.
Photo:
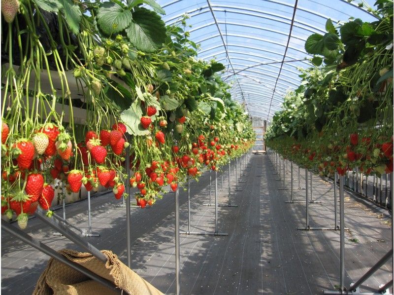
[{"label": "arched clear plastic greenhouse roof with blue sky showing through", "polygon": [[[376,0],[364,3],[373,7]],[[268,121],[281,109],[289,89],[300,84],[297,68],[311,64],[304,43],[350,17],[373,21],[360,0],[158,0],[166,24],[190,16],[190,38],[201,44],[198,57],[225,65],[222,77],[235,101]]]}]

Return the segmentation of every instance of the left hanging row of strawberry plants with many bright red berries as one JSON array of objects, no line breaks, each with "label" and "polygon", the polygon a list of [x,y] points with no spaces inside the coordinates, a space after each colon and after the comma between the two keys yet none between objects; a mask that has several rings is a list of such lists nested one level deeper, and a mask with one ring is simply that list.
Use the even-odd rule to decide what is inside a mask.
[{"label": "left hanging row of strawberry plants with many bright red berries", "polygon": [[253,145],[186,17],[166,27],[153,0],[7,0],[1,12],[1,213],[21,228],[37,206],[52,215],[54,187],[119,199],[130,184],[144,207]]}]

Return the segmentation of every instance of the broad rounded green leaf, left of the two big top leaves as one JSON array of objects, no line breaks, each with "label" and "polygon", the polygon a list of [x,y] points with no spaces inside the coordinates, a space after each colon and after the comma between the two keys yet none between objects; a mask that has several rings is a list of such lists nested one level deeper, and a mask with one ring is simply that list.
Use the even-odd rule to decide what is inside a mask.
[{"label": "broad rounded green leaf, left of the two big top leaves", "polygon": [[107,35],[116,34],[126,29],[132,20],[131,11],[114,2],[104,2],[97,13],[97,23]]}]

